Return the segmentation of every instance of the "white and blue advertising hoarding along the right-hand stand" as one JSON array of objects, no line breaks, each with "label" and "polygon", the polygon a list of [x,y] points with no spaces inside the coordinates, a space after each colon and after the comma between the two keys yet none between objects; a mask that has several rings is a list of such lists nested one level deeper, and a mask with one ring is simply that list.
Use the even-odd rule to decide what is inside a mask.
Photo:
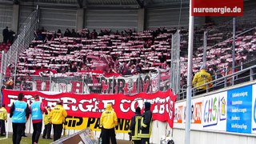
[{"label": "white and blue advertising hoarding along the right-hand stand", "polygon": [[[191,105],[191,130],[256,134],[256,85],[194,98]],[[185,129],[186,102],[174,107],[174,128]]]}]

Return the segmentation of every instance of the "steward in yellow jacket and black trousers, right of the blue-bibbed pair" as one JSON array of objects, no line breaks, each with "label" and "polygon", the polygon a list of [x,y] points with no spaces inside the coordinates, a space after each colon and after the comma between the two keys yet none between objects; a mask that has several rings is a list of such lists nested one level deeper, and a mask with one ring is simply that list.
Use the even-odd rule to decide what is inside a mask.
[{"label": "steward in yellow jacket and black trousers, right of the blue-bibbed pair", "polygon": [[62,107],[62,102],[57,102],[57,105],[50,112],[50,121],[54,127],[54,141],[57,141],[62,136],[62,124],[67,116],[66,110]]}]

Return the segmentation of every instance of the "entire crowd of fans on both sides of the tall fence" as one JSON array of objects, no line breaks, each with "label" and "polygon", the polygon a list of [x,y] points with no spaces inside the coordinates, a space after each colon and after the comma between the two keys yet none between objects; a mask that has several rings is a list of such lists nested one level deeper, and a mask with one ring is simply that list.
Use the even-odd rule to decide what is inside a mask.
[{"label": "entire crowd of fans on both sides of the tall fence", "polygon": [[[194,29],[194,66],[196,73],[202,66],[203,32],[209,31],[207,42],[207,70],[210,74],[222,68],[230,68],[232,40],[226,40],[231,33],[221,31],[213,23],[207,23]],[[176,28],[165,27],[156,30],[118,30],[113,32],[102,29],[83,29],[75,31],[66,29],[51,32],[43,27],[35,31],[34,41],[18,57],[18,76],[70,77],[81,76],[88,71],[100,74],[133,75],[148,73],[157,69],[170,70],[171,36]],[[239,32],[242,32],[241,29]],[[188,30],[181,28],[181,86],[186,85],[187,37]],[[199,47],[197,47],[197,45]],[[247,59],[247,55],[256,50],[255,30],[242,34],[236,39],[236,63]],[[14,65],[8,66],[9,76],[14,74]],[[7,74],[7,73],[6,73]],[[222,76],[225,74],[222,73]],[[8,74],[6,75],[8,76]]]}]

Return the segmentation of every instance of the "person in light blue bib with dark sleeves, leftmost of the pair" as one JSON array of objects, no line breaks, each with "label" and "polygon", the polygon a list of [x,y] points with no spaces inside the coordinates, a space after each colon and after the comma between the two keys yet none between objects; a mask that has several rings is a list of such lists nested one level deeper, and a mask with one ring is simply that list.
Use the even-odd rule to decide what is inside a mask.
[{"label": "person in light blue bib with dark sleeves, leftmost of the pair", "polygon": [[10,118],[13,125],[13,143],[18,144],[22,140],[22,131],[26,121],[30,118],[30,107],[23,101],[24,95],[18,94],[18,100],[10,106]]}]

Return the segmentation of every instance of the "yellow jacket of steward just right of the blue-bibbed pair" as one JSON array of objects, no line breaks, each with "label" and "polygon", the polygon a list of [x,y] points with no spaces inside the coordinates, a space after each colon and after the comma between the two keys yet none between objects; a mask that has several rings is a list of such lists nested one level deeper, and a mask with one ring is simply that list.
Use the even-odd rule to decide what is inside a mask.
[{"label": "yellow jacket of steward just right of the blue-bibbed pair", "polygon": [[62,105],[57,105],[50,112],[50,119],[52,124],[62,124],[67,116],[66,110]]}]

